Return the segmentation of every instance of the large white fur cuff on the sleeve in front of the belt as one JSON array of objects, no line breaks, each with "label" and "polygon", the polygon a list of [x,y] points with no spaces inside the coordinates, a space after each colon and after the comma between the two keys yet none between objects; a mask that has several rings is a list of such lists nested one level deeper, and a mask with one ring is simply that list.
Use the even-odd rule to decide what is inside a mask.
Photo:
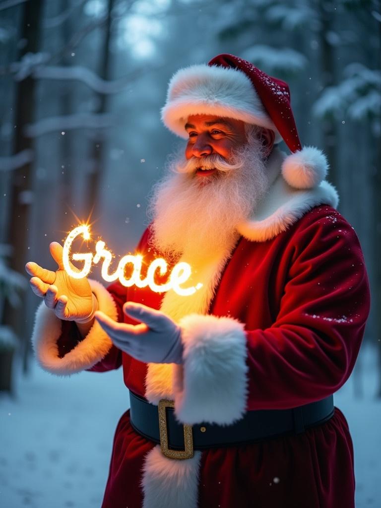
[{"label": "large white fur cuff on the sleeve in front of the belt", "polygon": [[183,364],[174,368],[176,417],[183,423],[230,425],[247,398],[246,335],[231,317],[190,314],[180,321]]}]

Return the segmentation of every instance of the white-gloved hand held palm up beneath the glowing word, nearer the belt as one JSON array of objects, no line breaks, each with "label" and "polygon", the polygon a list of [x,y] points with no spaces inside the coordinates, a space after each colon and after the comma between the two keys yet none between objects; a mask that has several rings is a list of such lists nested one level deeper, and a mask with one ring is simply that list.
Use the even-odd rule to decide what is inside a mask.
[{"label": "white-gloved hand held palm up beneath the glowing word, nearer the belt", "polygon": [[182,363],[181,329],[146,305],[127,302],[123,311],[139,325],[117,323],[101,311],[95,318],[121,351],[145,363]]}]

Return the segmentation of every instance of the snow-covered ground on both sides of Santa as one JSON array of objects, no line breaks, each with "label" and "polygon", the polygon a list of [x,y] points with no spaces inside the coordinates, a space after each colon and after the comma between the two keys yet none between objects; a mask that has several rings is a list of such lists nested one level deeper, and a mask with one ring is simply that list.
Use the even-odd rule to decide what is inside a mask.
[{"label": "snow-covered ground on both sides of Santa", "polygon": [[[354,440],[356,508],[381,507],[381,401],[375,354],[366,349],[362,398],[350,378],[335,396]],[[60,378],[31,365],[16,397],[0,396],[0,506],[97,508],[115,426],[128,408],[121,370]],[[307,507],[306,507],[307,508]],[[337,507],[345,508],[345,507]]]}]

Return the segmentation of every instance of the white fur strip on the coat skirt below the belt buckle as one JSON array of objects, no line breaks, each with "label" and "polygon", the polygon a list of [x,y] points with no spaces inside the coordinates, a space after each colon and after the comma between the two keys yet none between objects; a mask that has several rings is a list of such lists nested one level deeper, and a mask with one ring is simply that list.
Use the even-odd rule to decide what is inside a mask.
[{"label": "white fur strip on the coat skirt below the belt buckle", "polygon": [[143,508],[196,508],[201,452],[191,459],[169,459],[155,446],[144,459]]}]

